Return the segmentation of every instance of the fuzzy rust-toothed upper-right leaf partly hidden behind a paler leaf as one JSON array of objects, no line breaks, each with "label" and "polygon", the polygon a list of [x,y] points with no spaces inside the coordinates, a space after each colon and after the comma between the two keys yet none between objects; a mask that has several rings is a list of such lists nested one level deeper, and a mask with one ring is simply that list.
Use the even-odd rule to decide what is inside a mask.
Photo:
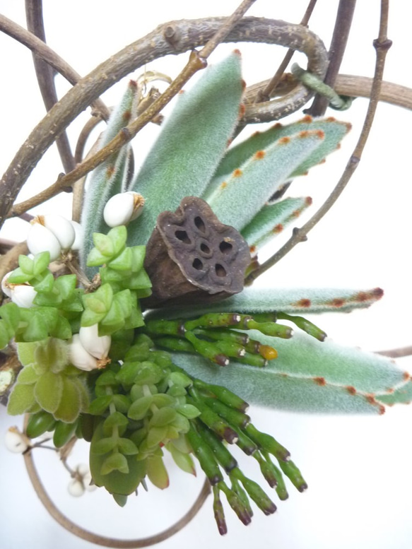
[{"label": "fuzzy rust-toothed upper-right leaf partly hidden behind a paler leaf", "polygon": [[274,124],[268,130],[256,131],[245,141],[231,147],[220,162],[215,177],[216,179],[227,177],[258,150],[264,150],[282,137],[290,137],[299,134],[301,131],[322,131],[324,132],[322,145],[290,174],[291,177],[302,175],[311,166],[322,162],[326,155],[338,148],[341,139],[350,127],[346,122],[339,122],[333,118],[312,119],[311,117],[305,117],[286,126],[279,123]]}]

